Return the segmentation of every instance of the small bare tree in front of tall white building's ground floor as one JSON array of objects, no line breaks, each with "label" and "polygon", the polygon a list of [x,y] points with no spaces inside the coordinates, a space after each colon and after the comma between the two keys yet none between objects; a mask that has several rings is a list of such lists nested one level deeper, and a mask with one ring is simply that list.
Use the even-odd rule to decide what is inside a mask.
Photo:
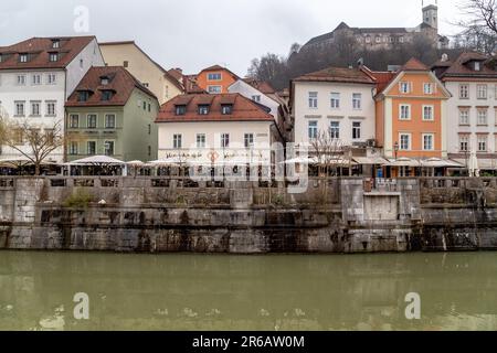
[{"label": "small bare tree in front of tall white building's ground floor", "polygon": [[340,162],[343,161],[343,145],[340,139],[331,137],[329,131],[319,131],[310,141],[310,152],[316,157],[319,167],[319,175],[337,174]]}]

